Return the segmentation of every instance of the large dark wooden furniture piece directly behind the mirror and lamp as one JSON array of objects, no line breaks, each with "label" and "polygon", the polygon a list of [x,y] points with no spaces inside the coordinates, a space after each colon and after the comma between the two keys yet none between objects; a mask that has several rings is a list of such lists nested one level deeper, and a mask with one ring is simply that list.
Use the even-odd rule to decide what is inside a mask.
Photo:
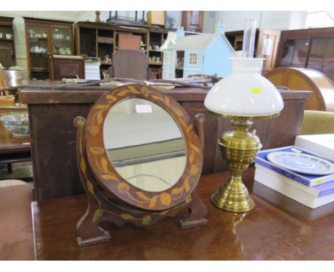
[{"label": "large dark wooden furniture piece directly behind the mirror and lamp", "polygon": [[[104,92],[36,88],[21,91],[22,102],[29,108],[35,199],[83,194],[76,166],[76,127],[73,121],[77,116],[86,118],[93,103]],[[181,104],[192,120],[198,113],[206,115],[202,173],[228,169],[217,141],[223,132],[232,129],[231,120],[208,112],[203,103],[207,90],[177,87],[164,93]],[[280,89],[280,93],[285,103],[280,116],[255,121],[251,127],[260,137],[263,149],[293,145],[295,136],[300,133],[305,101],[311,95],[310,91],[291,92],[285,89]]]}]

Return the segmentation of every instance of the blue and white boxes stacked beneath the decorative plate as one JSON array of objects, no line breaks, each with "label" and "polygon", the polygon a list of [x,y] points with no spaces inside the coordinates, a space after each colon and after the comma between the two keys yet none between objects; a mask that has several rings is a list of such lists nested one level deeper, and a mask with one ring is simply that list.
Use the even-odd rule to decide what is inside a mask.
[{"label": "blue and white boxes stacked beneath the decorative plate", "polygon": [[[325,162],[322,157],[295,146],[263,150],[255,157],[255,182],[312,209],[334,202],[334,173],[301,174],[300,171],[295,172],[291,167],[285,168],[270,161],[267,156],[272,152],[284,152],[285,154],[291,152],[293,156],[298,154],[310,157],[310,160],[316,161],[318,158],[320,163]],[[328,159],[326,161],[333,166],[333,161]]]}]

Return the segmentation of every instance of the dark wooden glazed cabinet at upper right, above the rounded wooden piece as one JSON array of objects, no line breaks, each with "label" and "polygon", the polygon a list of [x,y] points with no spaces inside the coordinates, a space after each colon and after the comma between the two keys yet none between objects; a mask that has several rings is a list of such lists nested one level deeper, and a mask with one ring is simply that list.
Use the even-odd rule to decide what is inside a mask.
[{"label": "dark wooden glazed cabinet at upper right, above the rounded wooden piece", "polygon": [[334,80],[334,27],[282,31],[276,66],[311,68]]}]

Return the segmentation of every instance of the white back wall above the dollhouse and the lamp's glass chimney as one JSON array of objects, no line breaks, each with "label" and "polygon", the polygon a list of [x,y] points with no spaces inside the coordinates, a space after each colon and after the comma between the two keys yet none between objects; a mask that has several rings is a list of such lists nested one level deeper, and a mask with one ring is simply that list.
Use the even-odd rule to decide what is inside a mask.
[{"label": "white back wall above the dollhouse and the lamp's glass chimney", "polygon": [[306,14],[306,11],[204,11],[203,32],[212,33],[219,23],[226,26],[226,31],[243,30],[246,19],[256,19],[258,28],[305,28]]}]

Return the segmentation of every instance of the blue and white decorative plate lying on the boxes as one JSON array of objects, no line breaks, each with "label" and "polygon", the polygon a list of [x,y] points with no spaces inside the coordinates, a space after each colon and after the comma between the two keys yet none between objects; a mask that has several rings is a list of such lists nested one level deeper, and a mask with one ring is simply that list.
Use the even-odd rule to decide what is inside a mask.
[{"label": "blue and white decorative plate lying on the boxes", "polygon": [[327,175],[334,173],[334,164],[327,159],[293,152],[270,152],[267,159],[285,169],[301,174]]}]

